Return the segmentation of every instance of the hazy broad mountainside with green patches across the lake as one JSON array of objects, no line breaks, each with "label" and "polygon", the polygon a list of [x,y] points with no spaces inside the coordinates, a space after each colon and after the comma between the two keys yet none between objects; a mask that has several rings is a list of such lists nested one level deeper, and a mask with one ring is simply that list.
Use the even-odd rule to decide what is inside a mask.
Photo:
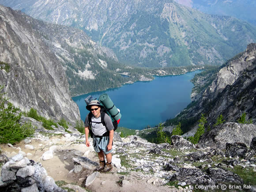
[{"label": "hazy broad mountainside with green patches across the lake", "polygon": [[173,0],[0,0],[28,15],[84,30],[120,62],[166,67],[221,65],[256,41],[256,27]]}]

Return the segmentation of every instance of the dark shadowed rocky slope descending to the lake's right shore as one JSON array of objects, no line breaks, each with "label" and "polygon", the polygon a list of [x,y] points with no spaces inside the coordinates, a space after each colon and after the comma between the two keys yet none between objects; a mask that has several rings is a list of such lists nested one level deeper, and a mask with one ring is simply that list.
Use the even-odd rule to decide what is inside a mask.
[{"label": "dark shadowed rocky slope descending to the lake's right shore", "polygon": [[168,124],[181,121],[190,126],[201,113],[213,126],[222,115],[224,120],[236,122],[243,113],[246,121],[256,123],[256,44],[228,60],[218,70],[195,75],[193,102]]}]

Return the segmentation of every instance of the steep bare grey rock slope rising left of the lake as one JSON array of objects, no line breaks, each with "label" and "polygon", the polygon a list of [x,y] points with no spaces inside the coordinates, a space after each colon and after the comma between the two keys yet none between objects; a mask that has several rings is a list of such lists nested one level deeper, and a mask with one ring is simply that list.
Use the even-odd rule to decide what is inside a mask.
[{"label": "steep bare grey rock slope rising left of the lake", "polygon": [[23,111],[34,108],[44,117],[75,123],[80,114],[64,68],[25,17],[0,6],[0,85]]}]

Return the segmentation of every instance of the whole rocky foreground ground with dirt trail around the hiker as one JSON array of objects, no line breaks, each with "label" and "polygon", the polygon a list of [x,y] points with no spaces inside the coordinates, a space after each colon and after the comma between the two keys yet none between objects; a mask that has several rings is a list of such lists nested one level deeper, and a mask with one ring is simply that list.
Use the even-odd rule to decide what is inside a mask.
[{"label": "whole rocky foreground ground with dirt trail around the hiker", "polygon": [[[234,129],[240,124],[227,123],[226,126]],[[247,131],[256,128],[253,124],[246,126]],[[245,133],[245,126],[238,129]],[[223,129],[219,128],[223,133],[220,130]],[[220,188],[232,183],[256,190],[256,137],[253,133],[247,138],[251,141],[249,147],[248,142],[239,143],[233,137],[231,143],[230,136],[227,138],[230,144],[222,149],[194,145],[181,136],[173,136],[173,145],[169,145],[149,143],[138,136],[120,138],[115,132],[114,169],[110,173],[98,173],[93,171],[98,165],[97,154],[92,146],[86,147],[85,136],[75,131],[69,134],[61,128],[47,132],[37,132],[33,138],[14,146],[0,145],[4,165],[1,167],[2,189],[9,191],[10,186],[18,183],[23,191],[32,191],[31,187],[37,186],[38,191],[169,192],[194,191],[202,186]],[[207,136],[203,139],[210,140]],[[3,160],[5,156],[8,159]],[[21,166],[23,162],[26,163]],[[33,169],[28,168],[33,166]],[[240,169],[246,177],[238,172]]]}]

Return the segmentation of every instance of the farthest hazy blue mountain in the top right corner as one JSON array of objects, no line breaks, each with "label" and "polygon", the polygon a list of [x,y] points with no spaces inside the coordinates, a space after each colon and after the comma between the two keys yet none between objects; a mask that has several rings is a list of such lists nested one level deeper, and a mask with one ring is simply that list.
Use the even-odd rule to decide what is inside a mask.
[{"label": "farthest hazy blue mountain in the top right corner", "polygon": [[207,14],[227,15],[256,25],[254,0],[175,0],[179,4],[195,8]]}]

